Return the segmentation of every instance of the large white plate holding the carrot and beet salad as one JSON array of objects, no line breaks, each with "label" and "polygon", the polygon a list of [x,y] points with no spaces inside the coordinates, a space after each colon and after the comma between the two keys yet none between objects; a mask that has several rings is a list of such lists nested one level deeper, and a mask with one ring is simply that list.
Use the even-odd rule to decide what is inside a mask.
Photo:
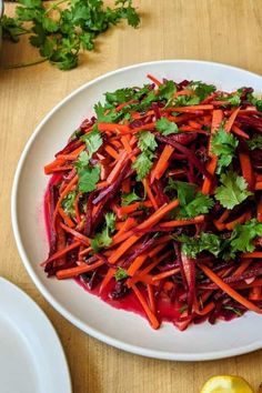
[{"label": "large white plate holding the carrot and beet salad", "polygon": [[93,113],[103,93],[148,82],[145,75],[181,81],[203,80],[233,90],[243,85],[262,92],[262,78],[229,66],[170,60],[128,67],[89,82],[67,97],[38,125],[19,161],[12,190],[12,224],[22,261],[46,299],[69,321],[94,337],[122,350],[151,357],[209,360],[262,347],[262,316],[212,326],[194,325],[179,332],[172,324],[153,331],[141,316],[115,310],[84,292],[73,281],[48,280],[39,265],[48,254],[42,200],[48,183],[43,165],[53,159],[72,131]]}]

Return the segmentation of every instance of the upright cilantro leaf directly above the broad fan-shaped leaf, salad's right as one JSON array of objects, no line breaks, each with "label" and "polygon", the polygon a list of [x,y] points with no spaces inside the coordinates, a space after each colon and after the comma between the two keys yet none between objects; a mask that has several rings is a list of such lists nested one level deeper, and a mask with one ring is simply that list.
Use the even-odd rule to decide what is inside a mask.
[{"label": "upright cilantro leaf directly above the broad fan-shaped leaf, salad's right", "polygon": [[228,168],[239,144],[238,139],[230,132],[220,127],[219,131],[212,137],[212,152],[219,157],[216,173],[221,173],[223,168]]}]

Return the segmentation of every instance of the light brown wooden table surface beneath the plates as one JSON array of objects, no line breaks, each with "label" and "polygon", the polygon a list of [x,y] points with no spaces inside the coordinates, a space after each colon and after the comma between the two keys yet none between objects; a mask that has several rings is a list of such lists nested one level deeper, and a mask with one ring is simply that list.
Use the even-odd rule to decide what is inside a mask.
[{"label": "light brown wooden table surface beneath the plates", "polygon": [[[48,63],[0,73],[0,275],[23,289],[56,326],[74,393],[198,393],[213,374],[244,376],[256,389],[262,351],[206,363],[135,356],[88,336],[41,296],[18,255],[10,221],[10,192],[20,153],[36,125],[72,90],[119,67],[155,59],[202,59],[262,74],[262,0],[135,1],[141,28],[121,26],[99,38],[95,53],[62,72]],[[13,6],[6,7],[11,13]],[[2,64],[37,58],[27,41],[3,46]],[[204,78],[204,75],[203,75]],[[246,332],[249,334],[249,332]],[[47,392],[48,393],[48,392]]]}]

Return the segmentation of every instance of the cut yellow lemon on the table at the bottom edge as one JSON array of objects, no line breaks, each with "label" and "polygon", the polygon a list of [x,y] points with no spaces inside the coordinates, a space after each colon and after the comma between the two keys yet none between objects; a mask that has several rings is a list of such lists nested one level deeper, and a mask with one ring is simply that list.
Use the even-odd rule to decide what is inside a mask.
[{"label": "cut yellow lemon on the table at the bottom edge", "polygon": [[241,376],[216,375],[209,379],[200,393],[254,393]]}]

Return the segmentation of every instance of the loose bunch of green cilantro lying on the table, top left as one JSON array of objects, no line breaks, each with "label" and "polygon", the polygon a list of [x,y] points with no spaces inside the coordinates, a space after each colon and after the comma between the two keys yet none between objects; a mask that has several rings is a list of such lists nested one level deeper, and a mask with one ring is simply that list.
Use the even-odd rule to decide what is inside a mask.
[{"label": "loose bunch of green cilantro lying on the table, top left", "polygon": [[[50,8],[41,0],[19,0],[19,3],[14,18],[2,18],[3,38],[18,42],[21,34],[29,34],[30,43],[39,49],[42,59],[14,67],[48,60],[60,70],[73,69],[80,51],[93,50],[95,38],[110,26],[122,19],[133,28],[140,22],[132,0],[117,0],[112,8],[104,8],[101,0],[60,0]],[[67,7],[61,7],[62,3]]]}]

